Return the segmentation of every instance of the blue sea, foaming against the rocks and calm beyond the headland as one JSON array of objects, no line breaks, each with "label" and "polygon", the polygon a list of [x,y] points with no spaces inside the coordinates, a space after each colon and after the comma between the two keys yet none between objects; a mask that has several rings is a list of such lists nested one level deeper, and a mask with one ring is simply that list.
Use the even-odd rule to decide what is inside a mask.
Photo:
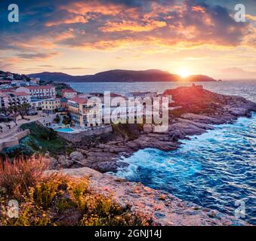
[{"label": "blue sea, foaming against the rocks and calm beyond the headland", "polygon": [[[79,92],[159,93],[190,83],[69,83]],[[200,82],[215,93],[243,96],[256,102],[256,81]],[[182,141],[176,151],[147,148],[120,157],[129,163],[113,175],[150,188],[167,191],[182,200],[239,215],[256,225],[256,113],[234,124],[214,126],[201,136]],[[242,210],[242,213],[239,212]],[[244,214],[244,215],[243,215]]]}]

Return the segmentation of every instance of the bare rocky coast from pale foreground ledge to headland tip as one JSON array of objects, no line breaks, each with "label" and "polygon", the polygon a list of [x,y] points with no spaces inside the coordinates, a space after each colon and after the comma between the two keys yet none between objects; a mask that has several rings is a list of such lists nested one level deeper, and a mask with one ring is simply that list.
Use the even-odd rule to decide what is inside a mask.
[{"label": "bare rocky coast from pale foreground ledge to headland tip", "polygon": [[145,209],[145,212],[153,215],[158,225],[249,225],[233,216],[180,200],[165,191],[156,191],[139,183],[100,173],[116,172],[120,167],[127,166],[127,163],[119,160],[121,156],[129,157],[144,148],[175,150],[182,139],[214,130],[212,125],[232,124],[239,117],[250,117],[251,112],[256,111],[256,103],[242,97],[214,95],[225,101],[225,105],[214,109],[218,113],[180,114],[171,119],[166,133],[154,133],[151,125],[144,125],[140,131],[132,126],[137,138],[125,139],[116,135],[114,140],[83,148],[82,143],[79,143],[79,148],[69,157],[49,157],[52,168],[62,169],[64,173],[75,177],[88,176],[91,188],[103,194],[113,193],[119,203],[131,205],[134,210]]}]

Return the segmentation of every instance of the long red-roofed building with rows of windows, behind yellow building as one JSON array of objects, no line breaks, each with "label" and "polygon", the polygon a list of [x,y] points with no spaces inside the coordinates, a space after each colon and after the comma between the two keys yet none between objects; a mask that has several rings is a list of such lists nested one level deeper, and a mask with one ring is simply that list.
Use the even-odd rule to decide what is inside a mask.
[{"label": "long red-roofed building with rows of windows, behind yellow building", "polygon": [[17,92],[29,93],[31,99],[53,99],[56,97],[56,90],[51,85],[19,87]]}]

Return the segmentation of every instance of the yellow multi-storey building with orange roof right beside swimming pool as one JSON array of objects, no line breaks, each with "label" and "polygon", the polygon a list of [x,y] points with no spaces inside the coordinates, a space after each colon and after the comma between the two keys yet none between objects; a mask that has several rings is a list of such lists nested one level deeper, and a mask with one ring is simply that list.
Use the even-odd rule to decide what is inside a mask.
[{"label": "yellow multi-storey building with orange roof right beside swimming pool", "polygon": [[76,96],[68,99],[67,108],[71,121],[76,127],[95,127],[101,124],[99,103],[91,103],[88,99]]}]

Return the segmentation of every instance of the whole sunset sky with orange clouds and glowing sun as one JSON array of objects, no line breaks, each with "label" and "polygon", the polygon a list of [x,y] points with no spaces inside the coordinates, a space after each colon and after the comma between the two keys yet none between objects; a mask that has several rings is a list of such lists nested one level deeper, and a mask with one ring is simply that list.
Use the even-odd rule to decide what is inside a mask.
[{"label": "whole sunset sky with orange clouds and glowing sun", "polygon": [[[11,3],[19,7],[18,23],[8,21]],[[245,22],[234,18],[238,3]],[[0,69],[162,69],[256,79],[256,0],[2,0]]]}]

